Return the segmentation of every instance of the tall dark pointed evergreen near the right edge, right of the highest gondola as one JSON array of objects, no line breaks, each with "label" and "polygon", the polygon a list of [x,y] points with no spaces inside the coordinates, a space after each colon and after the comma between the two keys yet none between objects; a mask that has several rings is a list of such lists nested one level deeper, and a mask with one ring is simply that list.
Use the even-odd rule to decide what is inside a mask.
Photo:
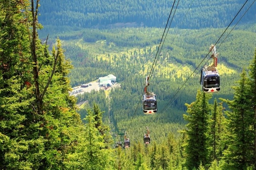
[{"label": "tall dark pointed evergreen near the right edge, right of the highest gondola", "polygon": [[223,166],[228,169],[246,169],[252,165],[253,152],[251,149],[253,141],[252,124],[252,105],[249,79],[243,70],[239,86],[234,87],[234,99],[232,101],[222,99],[228,104],[232,111],[227,111],[228,149],[224,151],[226,164]]}]

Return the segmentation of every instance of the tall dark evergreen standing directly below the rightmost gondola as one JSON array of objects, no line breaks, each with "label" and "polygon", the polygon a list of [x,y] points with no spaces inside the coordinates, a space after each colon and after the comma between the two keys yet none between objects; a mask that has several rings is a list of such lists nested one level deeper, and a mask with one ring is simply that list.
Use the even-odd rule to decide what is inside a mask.
[{"label": "tall dark evergreen standing directly below the rightmost gondola", "polygon": [[197,91],[196,101],[191,104],[185,104],[188,108],[188,115],[183,115],[184,119],[188,121],[187,145],[185,151],[187,152],[186,166],[188,169],[193,167],[198,168],[200,162],[203,166],[208,165],[208,122],[209,113],[211,111],[208,100],[212,95],[206,94],[202,91]]}]

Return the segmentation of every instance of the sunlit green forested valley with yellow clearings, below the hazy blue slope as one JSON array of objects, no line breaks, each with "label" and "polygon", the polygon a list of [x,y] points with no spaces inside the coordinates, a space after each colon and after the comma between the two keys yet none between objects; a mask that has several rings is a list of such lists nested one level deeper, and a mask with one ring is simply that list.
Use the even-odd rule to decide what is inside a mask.
[{"label": "sunlit green forested valley with yellow clearings, below the hazy blue slope", "polygon": [[[143,119],[147,117],[143,115],[141,105],[139,104],[137,108],[137,104],[140,103],[145,76],[149,74],[152,67],[158,47],[156,42],[159,41],[162,32],[163,29],[157,28],[85,29],[72,32],[70,36],[67,33],[59,35],[60,39],[63,39],[66,56],[72,60],[72,64],[75,66],[70,74],[72,86],[88,83],[96,77],[108,74],[114,74],[117,81],[121,82],[121,89],[110,93],[109,107],[111,108],[110,112],[113,113],[116,128],[127,128],[136,109],[136,119],[144,121]],[[184,85],[182,88],[184,91],[178,98],[172,104],[168,103],[172,102],[177,90],[207,55],[210,44],[217,41],[222,32],[223,29],[186,29],[179,30],[177,34],[176,29],[170,30],[149,86],[149,90],[157,94],[159,114],[163,115],[156,119],[157,122],[185,123],[182,116],[186,112],[184,104],[194,101],[197,89],[201,89],[198,72],[203,64]],[[94,35],[95,41],[88,42],[85,38],[73,39],[78,35],[79,37]],[[220,42],[224,38],[220,39]],[[239,79],[242,69],[247,68],[249,61],[252,60],[251,56],[256,46],[253,41],[255,38],[256,35],[252,31],[234,30],[221,46],[219,46],[220,43],[216,45],[219,53],[217,68],[221,76],[221,92],[214,94],[212,101],[214,98],[220,97],[232,99],[231,87]],[[208,63],[211,64],[212,60]],[[90,96],[90,94],[79,96],[78,99],[87,99],[88,95]],[[100,98],[104,98],[104,96],[105,94],[102,93]],[[102,110],[105,110],[104,120],[109,123],[105,99],[90,98],[90,105],[94,101],[99,103]],[[164,110],[166,106],[169,107],[168,110]],[[162,110],[164,111],[161,112]],[[153,122],[140,123],[140,129],[150,123]],[[156,126],[154,124],[152,128],[155,129]],[[132,134],[133,131],[136,129],[131,130]],[[131,136],[132,139],[138,138],[139,132],[136,132],[135,136]],[[156,133],[159,131],[157,130]]]}]

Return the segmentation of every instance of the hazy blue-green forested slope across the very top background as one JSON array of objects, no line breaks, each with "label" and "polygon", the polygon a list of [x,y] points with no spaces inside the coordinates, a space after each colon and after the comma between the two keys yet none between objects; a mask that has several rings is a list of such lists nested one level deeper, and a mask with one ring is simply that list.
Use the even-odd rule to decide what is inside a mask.
[{"label": "hazy blue-green forested slope across the very top background", "polygon": [[[170,14],[172,0],[44,0],[40,1],[39,20],[43,25],[78,26],[84,28],[113,27],[164,27]],[[177,5],[175,2],[174,7]],[[205,27],[220,28],[227,26],[244,1],[240,0],[184,0],[180,1],[172,21],[172,27],[198,29]],[[241,11],[251,4],[250,1]],[[175,9],[175,8],[174,8]],[[172,11],[172,14],[174,12]],[[189,11],[188,11],[189,10]],[[256,6],[245,15],[241,23],[255,23]]]}]

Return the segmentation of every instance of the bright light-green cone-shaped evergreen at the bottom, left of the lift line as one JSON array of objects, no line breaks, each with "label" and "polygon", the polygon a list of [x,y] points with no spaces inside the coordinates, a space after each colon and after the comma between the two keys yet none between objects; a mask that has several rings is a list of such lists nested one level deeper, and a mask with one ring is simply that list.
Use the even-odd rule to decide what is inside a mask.
[{"label": "bright light-green cone-shaped evergreen at the bottom, left of the lift line", "polygon": [[96,122],[92,110],[87,110],[88,116],[84,131],[78,138],[78,145],[74,153],[68,154],[65,162],[68,169],[111,169],[113,158],[110,150],[100,149],[104,147],[104,140],[95,128]]}]

